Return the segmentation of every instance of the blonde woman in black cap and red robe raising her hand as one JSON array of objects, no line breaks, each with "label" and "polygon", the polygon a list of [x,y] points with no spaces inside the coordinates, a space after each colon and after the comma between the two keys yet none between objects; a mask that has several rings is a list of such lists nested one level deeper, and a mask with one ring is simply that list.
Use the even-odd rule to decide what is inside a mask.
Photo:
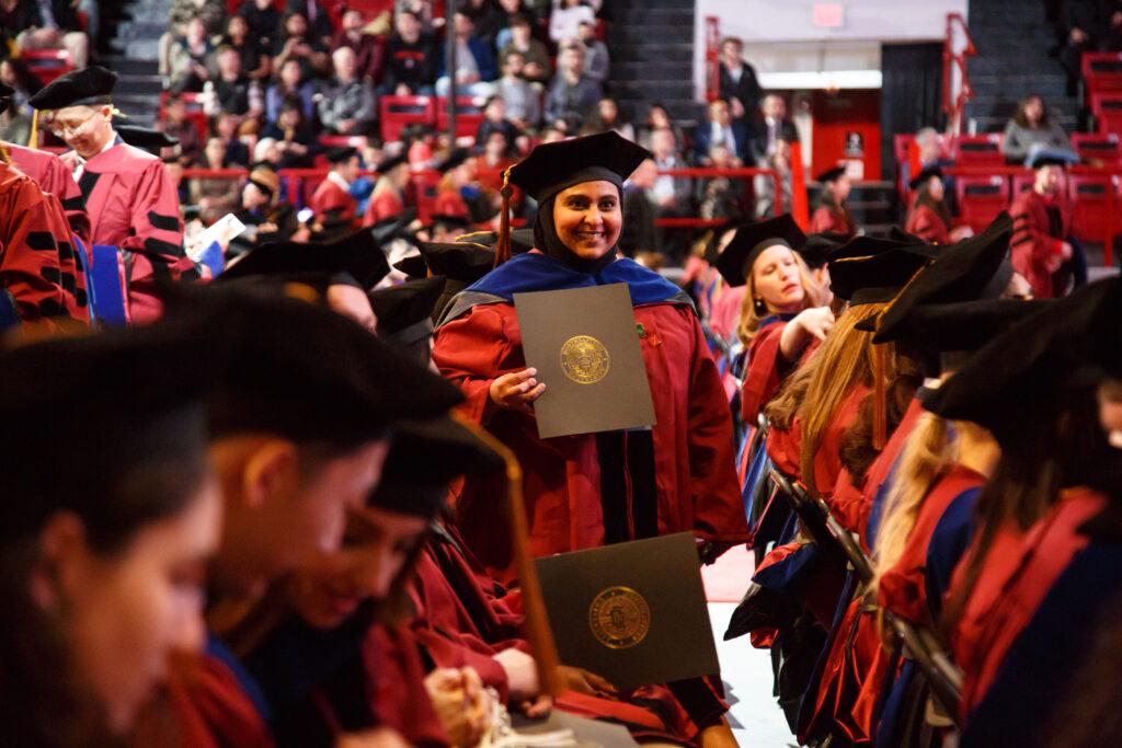
[{"label": "blonde woman in black cap and red robe raising her hand", "polygon": [[755,423],[810,342],[826,340],[834,326],[834,313],[822,304],[826,293],[799,255],[806,243],[784,213],[737,229],[717,259],[729,286],[747,288],[736,331],[748,357],[741,390],[745,423]]}]

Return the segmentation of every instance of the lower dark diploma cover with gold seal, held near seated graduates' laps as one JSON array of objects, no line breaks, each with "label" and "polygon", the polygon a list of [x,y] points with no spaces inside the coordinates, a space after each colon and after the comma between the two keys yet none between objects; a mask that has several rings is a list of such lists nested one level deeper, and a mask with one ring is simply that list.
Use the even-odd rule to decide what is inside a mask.
[{"label": "lower dark diploma cover with gold seal, held near seated graduates' laps", "polygon": [[690,533],[539,558],[558,653],[620,689],[720,672]]}]

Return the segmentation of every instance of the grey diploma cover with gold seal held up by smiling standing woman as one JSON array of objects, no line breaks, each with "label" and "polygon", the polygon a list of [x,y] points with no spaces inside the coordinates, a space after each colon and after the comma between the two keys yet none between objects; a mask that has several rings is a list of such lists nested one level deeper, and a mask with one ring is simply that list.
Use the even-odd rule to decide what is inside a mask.
[{"label": "grey diploma cover with gold seal held up by smiling standing woman", "polygon": [[540,437],[654,425],[627,284],[515,294],[514,305],[526,366],[545,382]]}]

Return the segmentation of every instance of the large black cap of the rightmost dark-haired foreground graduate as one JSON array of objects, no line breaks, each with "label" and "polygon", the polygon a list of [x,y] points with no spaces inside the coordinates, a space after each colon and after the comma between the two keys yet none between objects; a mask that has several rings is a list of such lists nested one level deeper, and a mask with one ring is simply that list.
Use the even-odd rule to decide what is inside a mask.
[{"label": "large black cap of the rightmost dark-haired foreground graduate", "polygon": [[[999,441],[1041,438],[1032,427],[1040,408],[1086,373],[1100,345],[1118,345],[1118,321],[1102,315],[1116,306],[1120,294],[1122,280],[1110,278],[1029,314],[980,350],[925,407],[944,418],[982,425]],[[1098,341],[1104,323],[1113,331]]]}]

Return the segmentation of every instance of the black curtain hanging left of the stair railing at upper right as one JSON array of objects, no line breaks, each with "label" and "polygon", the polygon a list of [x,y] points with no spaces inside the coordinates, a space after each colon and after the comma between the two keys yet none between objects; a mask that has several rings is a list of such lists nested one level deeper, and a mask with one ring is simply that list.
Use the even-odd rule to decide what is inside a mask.
[{"label": "black curtain hanging left of the stair railing at upper right", "polygon": [[881,175],[895,181],[892,137],[934,127],[942,130],[942,43],[881,45]]}]

